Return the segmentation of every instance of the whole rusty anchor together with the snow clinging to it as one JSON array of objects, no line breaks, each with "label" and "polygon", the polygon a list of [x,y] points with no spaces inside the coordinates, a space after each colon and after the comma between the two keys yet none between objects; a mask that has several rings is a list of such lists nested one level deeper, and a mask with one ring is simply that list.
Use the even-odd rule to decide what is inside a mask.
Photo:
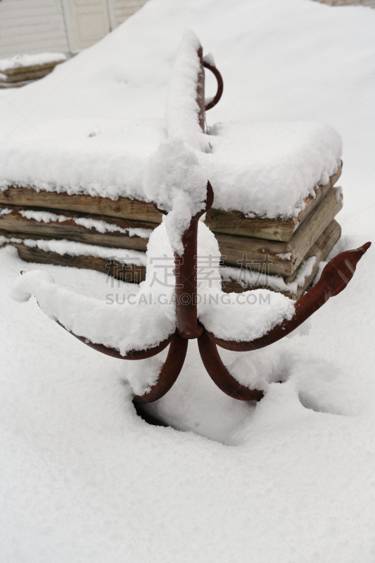
[{"label": "whole rusty anchor together with the snow clinging to it", "polygon": [[[200,108],[199,125],[204,131],[205,109],[220,99],[222,79],[214,68],[219,85],[215,98],[205,106],[202,48],[195,36],[190,46],[198,57],[202,72],[196,82],[196,101]],[[190,54],[192,51],[190,52]],[[189,57],[187,59],[189,62]],[[193,72],[193,70],[192,70]],[[183,84],[179,82],[177,86]],[[179,94],[179,88],[172,95]],[[187,106],[186,106],[187,107]],[[184,127],[179,137],[170,137],[160,144],[149,158],[144,178],[144,190],[150,201],[163,213],[163,223],[151,234],[148,243],[146,280],[141,295],[151,295],[150,303],[114,305],[108,307],[94,298],[80,296],[55,284],[46,272],[28,272],[18,287],[15,298],[27,301],[31,295],[49,317],[70,331],[77,339],[101,353],[123,360],[151,358],[170,348],[158,379],[144,394],[134,397],[134,403],[152,403],[170,390],[179,377],[190,339],[198,339],[201,359],[211,379],[228,396],[238,400],[260,400],[263,391],[239,383],[222,362],[217,346],[236,352],[257,350],[269,346],[290,334],[317,311],[329,298],[338,295],[348,285],[357,262],[371,243],[338,254],[324,267],[318,283],[297,302],[280,293],[272,293],[271,306],[250,308],[231,299],[210,303],[205,296],[222,296],[219,259],[215,235],[204,224],[203,215],[210,210],[214,192],[210,181],[193,151],[199,141],[196,122],[186,110]],[[174,116],[170,115],[173,122]],[[161,260],[173,255],[173,284],[167,290],[167,301],[160,303],[160,287],[153,284],[155,264],[153,250]],[[198,284],[197,258],[216,256],[212,269],[217,281]],[[247,293],[260,294],[266,290]],[[267,293],[267,291],[266,291]],[[228,294],[227,294],[228,297]]]}]

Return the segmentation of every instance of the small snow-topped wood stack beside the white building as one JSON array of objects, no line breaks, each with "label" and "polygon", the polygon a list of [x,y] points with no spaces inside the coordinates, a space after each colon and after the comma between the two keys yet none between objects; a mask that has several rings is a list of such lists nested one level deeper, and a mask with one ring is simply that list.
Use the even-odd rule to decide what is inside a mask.
[{"label": "small snow-topped wood stack beside the white building", "polygon": [[16,55],[0,59],[0,88],[17,88],[30,84],[49,75],[56,65],[64,61],[64,53]]}]

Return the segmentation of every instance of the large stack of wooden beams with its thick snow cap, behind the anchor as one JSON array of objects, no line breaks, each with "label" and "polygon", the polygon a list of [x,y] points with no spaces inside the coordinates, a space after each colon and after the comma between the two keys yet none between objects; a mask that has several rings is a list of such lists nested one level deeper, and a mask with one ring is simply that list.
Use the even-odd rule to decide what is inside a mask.
[{"label": "large stack of wooden beams with its thick snow cap, behind the anchor", "polygon": [[[341,139],[316,122],[218,123],[203,132],[198,51],[186,33],[165,120],[56,120],[11,134],[0,146],[2,243],[24,260],[140,281],[148,237],[162,221],[145,191],[147,161],[175,136],[195,149],[215,192],[205,222],[219,242],[225,291],[261,286],[298,298],[341,236]],[[215,65],[212,56],[207,63]]]}]

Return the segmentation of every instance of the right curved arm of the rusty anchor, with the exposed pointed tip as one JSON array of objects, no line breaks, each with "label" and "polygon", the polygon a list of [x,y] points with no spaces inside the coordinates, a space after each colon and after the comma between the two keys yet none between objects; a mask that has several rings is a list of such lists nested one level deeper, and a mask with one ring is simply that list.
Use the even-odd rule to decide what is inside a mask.
[{"label": "right curved arm of the rusty anchor, with the exposed pointed tip", "polygon": [[281,324],[271,329],[265,336],[249,342],[237,342],[234,340],[218,339],[214,334],[208,333],[210,339],[218,346],[235,352],[248,352],[258,350],[273,344],[290,334],[300,326],[306,319],[317,311],[329,300],[330,297],[338,295],[348,285],[355,272],[355,267],[364,253],[371,246],[371,242],[365,243],[353,251],[341,252],[324,267],[322,276],[316,286],[307,291],[303,297],[295,303],[295,314],[291,320],[284,320]]}]

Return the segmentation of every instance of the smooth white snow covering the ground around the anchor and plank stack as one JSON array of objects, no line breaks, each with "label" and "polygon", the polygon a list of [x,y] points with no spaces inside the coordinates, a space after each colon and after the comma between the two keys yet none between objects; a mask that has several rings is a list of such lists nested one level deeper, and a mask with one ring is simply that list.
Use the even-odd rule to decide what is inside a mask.
[{"label": "smooth white snow covering the ground around the anchor and plank stack", "polygon": [[[150,0],[44,80],[1,92],[0,140],[55,118],[163,118],[186,27],[224,76],[209,125],[336,127],[345,204],[335,251],[371,240],[375,11],[360,6]],[[173,429],[148,426],[132,406],[127,379],[146,377],[151,362],[100,355],[34,300],[11,300],[19,271],[33,267],[103,300],[131,286],[25,264],[14,248],[0,251],[0,267],[1,561],[374,562],[372,248],[348,289],[312,317],[310,336],[223,353],[239,379],[250,365],[252,377],[269,381],[258,405],[224,396],[191,342],[182,375],[156,406]]]}]

